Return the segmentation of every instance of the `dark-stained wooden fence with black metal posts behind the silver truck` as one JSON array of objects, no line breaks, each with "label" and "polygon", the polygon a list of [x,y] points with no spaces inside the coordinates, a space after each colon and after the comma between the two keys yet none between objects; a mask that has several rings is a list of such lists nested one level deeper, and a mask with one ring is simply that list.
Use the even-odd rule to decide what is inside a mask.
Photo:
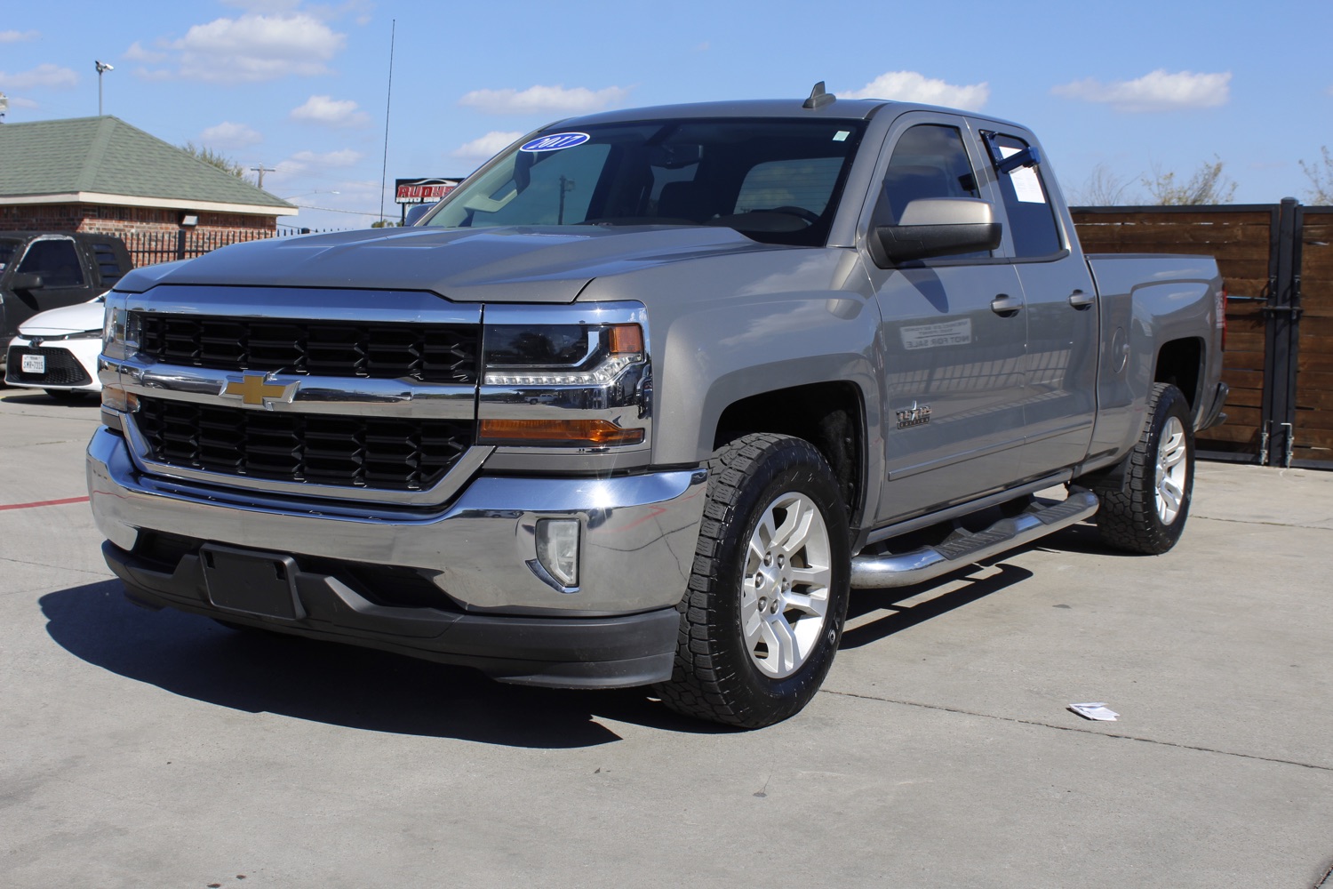
[{"label": "dark-stained wooden fence with black metal posts behind the silver truck", "polygon": [[1333,207],[1081,207],[1089,253],[1209,253],[1226,280],[1226,424],[1204,456],[1333,469]]}]

